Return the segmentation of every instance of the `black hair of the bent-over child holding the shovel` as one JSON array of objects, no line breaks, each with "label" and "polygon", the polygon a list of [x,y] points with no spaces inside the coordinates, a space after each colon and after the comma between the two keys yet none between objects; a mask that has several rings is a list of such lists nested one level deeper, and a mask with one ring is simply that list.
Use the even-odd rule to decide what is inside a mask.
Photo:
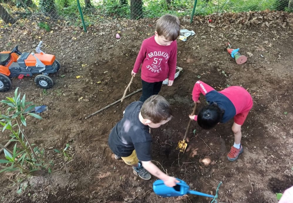
[{"label": "black hair of the bent-over child holding the shovel", "polygon": [[220,109],[216,103],[205,106],[199,111],[197,115],[197,123],[203,129],[212,129],[220,121],[222,121],[224,112],[225,111]]}]

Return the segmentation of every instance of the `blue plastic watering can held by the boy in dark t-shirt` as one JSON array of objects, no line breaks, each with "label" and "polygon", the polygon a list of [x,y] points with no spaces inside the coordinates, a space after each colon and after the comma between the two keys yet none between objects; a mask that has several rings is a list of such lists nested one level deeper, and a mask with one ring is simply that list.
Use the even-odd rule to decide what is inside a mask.
[{"label": "blue plastic watering can held by the boy in dark t-shirt", "polygon": [[208,195],[202,192],[197,192],[195,190],[189,190],[189,185],[187,185],[186,182],[178,178],[176,179],[179,180],[180,183],[177,183],[177,185],[175,185],[174,187],[166,186],[163,180],[156,180],[153,183],[153,190],[156,193],[156,195],[160,195],[162,197],[178,197],[178,196],[183,196],[186,194],[200,195],[203,197],[211,197],[213,198],[212,202],[214,202],[214,200],[218,198],[218,189],[220,184],[222,184],[222,182],[220,182],[220,184],[217,187],[216,195],[213,196],[213,195]]}]

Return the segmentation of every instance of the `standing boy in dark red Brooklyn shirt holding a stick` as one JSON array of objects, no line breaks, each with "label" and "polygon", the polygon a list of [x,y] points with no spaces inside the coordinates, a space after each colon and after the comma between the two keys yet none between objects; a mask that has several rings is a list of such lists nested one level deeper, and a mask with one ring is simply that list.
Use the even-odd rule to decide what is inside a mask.
[{"label": "standing boy in dark red Brooklyn shirt holding a stick", "polygon": [[142,64],[142,96],[139,101],[144,102],[151,95],[158,94],[166,78],[169,79],[168,86],[173,85],[179,33],[178,17],[165,14],[157,21],[155,35],[142,42],[131,71],[135,77]]}]

